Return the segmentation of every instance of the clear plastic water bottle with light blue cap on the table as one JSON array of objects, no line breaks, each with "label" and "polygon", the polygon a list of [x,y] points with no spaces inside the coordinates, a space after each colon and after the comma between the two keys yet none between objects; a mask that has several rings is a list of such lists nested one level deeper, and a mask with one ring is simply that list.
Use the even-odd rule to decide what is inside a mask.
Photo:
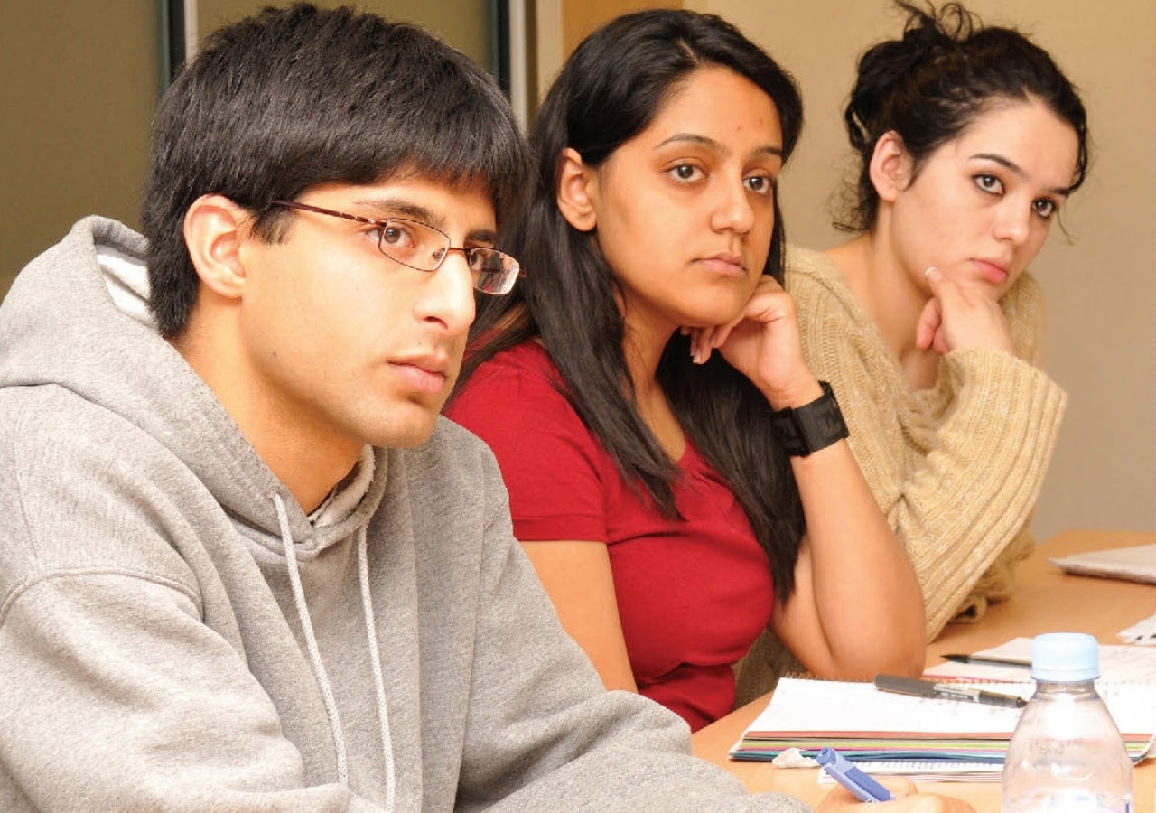
[{"label": "clear plastic water bottle with light blue cap on the table", "polygon": [[1031,677],[1036,693],[1003,762],[1003,813],[1131,813],[1132,760],[1096,693],[1096,638],[1037,636]]}]

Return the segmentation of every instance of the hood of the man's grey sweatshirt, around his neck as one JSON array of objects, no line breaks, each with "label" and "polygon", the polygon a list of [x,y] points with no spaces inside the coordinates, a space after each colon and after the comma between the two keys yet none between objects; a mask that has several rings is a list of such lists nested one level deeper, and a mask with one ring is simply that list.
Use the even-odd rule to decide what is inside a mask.
[{"label": "hood of the man's grey sweatshirt, around his neck", "polygon": [[[34,260],[0,310],[0,386],[55,384],[140,427],[197,474],[246,537],[271,549],[282,550],[284,530],[303,553],[348,539],[380,501],[385,454],[375,460],[366,450],[326,501],[324,519],[311,522],[208,385],[153,326],[144,247],[144,238],[124,224],[87,217]],[[366,465],[372,476],[365,476]]]}]

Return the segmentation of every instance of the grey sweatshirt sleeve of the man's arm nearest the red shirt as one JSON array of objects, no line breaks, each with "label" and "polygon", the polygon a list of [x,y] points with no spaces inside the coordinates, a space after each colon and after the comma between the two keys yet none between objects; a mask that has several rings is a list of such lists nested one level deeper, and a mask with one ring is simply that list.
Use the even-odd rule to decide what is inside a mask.
[{"label": "grey sweatshirt sleeve of the man's arm nearest the red shirt", "polygon": [[[498,478],[492,464],[490,479]],[[747,794],[691,756],[679,716],[642,695],[606,692],[504,511],[490,516],[484,545],[460,811],[809,810],[777,793]]]}]

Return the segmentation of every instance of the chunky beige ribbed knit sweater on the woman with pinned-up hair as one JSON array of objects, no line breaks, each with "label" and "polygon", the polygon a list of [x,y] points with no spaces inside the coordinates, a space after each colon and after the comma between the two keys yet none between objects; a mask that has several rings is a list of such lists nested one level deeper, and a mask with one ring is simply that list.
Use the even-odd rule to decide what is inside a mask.
[{"label": "chunky beige ribbed knit sweater on the woman with pinned-up hair", "polygon": [[1017,353],[968,348],[913,391],[898,360],[825,256],[792,250],[803,353],[831,383],[851,448],[919,577],[926,631],[1006,598],[1032,549],[1028,524],[1059,433],[1064,391],[1038,359],[1043,301],[1024,275],[1005,297]]}]

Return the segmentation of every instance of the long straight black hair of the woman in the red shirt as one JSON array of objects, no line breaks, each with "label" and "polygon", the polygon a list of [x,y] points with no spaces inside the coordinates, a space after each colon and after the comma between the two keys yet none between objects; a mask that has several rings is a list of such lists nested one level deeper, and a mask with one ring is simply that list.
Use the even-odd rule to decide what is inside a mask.
[{"label": "long straight black hair of the woman in the red shirt", "polygon": [[[531,132],[538,176],[503,245],[526,267],[516,291],[483,301],[461,380],[495,354],[539,338],[562,376],[560,391],[598,436],[631,486],[676,516],[677,468],[639,416],[623,353],[625,332],[614,271],[596,235],[565,220],[556,202],[560,158],[572,148],[599,167],[645,130],[696,69],[719,66],[763,89],[783,127],[784,161],[802,127],[794,80],[764,51],[713,15],[688,10],[628,14],[587,37],[555,80]],[[763,268],[783,280],[783,220]],[[726,479],[771,560],[777,594],[794,587],[806,530],[787,456],[771,433],[766,398],[720,354],[691,362],[675,334],[657,377],[687,436]]]}]

